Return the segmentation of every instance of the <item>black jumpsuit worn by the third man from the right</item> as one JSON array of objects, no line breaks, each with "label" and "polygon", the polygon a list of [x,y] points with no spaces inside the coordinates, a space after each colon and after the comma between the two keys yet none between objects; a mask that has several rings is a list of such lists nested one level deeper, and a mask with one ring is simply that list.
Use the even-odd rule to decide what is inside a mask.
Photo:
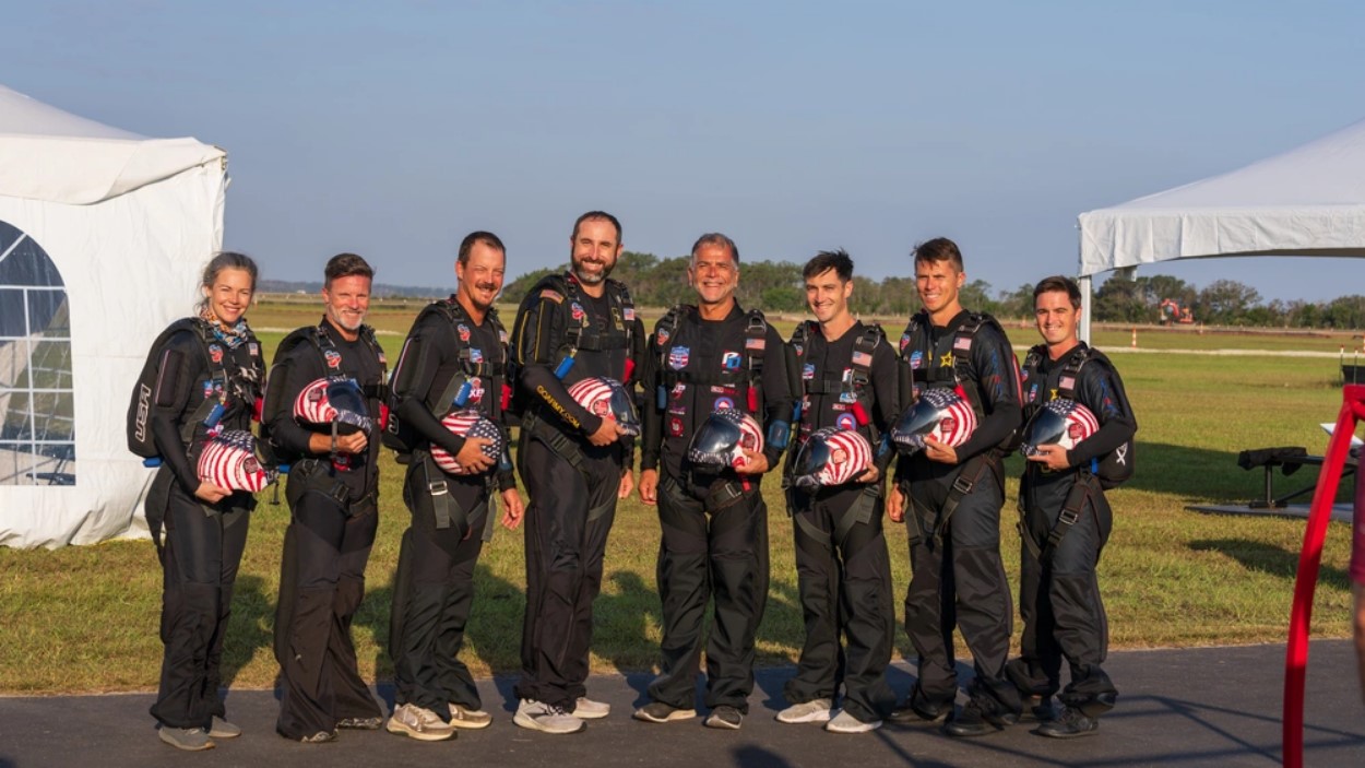
[{"label": "black jumpsuit worn by the third man from the right", "polygon": [[[900,415],[900,398],[895,350],[879,328],[875,332],[878,343],[867,364],[871,381],[857,388],[852,364],[854,342],[867,333],[867,327],[854,323],[841,338],[827,342],[818,324],[807,325],[804,348],[797,350],[804,399],[793,455],[814,430],[824,426],[857,429],[876,454],[880,436]],[[803,346],[800,336],[793,338],[793,346]],[[859,424],[859,409],[868,424]],[[887,451],[876,462],[883,477],[890,458]],[[788,496],[805,644],[796,676],[786,683],[786,700],[792,704],[833,700],[844,683],[844,709],[865,723],[886,717],[895,704],[895,693],[885,676],[894,644],[895,609],[882,530],[882,485],[879,477],[871,484],[848,482],[814,493],[792,488]],[[841,637],[848,638],[846,649]]]}]

